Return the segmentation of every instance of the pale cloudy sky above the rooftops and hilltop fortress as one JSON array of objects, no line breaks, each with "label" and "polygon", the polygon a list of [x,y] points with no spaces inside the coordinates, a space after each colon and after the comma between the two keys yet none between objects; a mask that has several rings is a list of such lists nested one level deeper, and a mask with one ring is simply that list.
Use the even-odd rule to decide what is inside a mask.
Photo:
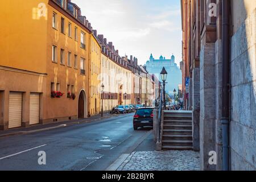
[{"label": "pale cloudy sky above the rooftops and hilltop fortress", "polygon": [[120,56],[133,55],[146,64],[150,53],[181,61],[179,0],[72,0],[98,34],[113,42]]}]

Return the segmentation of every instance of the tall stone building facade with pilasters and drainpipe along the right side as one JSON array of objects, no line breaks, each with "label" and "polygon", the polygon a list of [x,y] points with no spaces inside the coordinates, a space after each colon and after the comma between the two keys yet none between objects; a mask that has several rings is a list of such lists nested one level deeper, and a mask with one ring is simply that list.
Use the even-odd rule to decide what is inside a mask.
[{"label": "tall stone building facade with pilasters and drainpipe along the right side", "polygon": [[184,92],[201,169],[255,170],[256,2],[183,0],[181,10]]}]

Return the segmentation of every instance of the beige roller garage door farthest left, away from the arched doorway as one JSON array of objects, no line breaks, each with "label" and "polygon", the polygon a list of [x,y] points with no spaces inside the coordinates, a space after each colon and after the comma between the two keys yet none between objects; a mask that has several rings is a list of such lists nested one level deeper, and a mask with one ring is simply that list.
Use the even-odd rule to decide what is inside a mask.
[{"label": "beige roller garage door farthest left, away from the arched doorway", "polygon": [[10,92],[9,129],[22,126],[22,93]]}]

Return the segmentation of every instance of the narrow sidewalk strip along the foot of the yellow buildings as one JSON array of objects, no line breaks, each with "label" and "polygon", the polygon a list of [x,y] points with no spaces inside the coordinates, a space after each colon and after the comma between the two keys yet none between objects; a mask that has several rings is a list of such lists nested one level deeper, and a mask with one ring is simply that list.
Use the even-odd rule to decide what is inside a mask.
[{"label": "narrow sidewalk strip along the foot of the yellow buildings", "polygon": [[35,133],[35,132],[39,132],[39,131],[52,130],[52,129],[57,129],[60,127],[67,127],[67,126],[77,125],[77,124],[82,124],[82,123],[90,123],[93,121],[100,121],[101,119],[108,119],[108,118],[112,118],[115,116],[117,116],[117,114],[104,113],[103,118],[101,118],[101,114],[98,114],[98,115],[92,116],[90,118],[84,118],[84,119],[53,122],[53,123],[47,123],[44,125],[38,124],[38,125],[32,125],[30,127],[19,127],[16,129],[0,131],[0,138],[11,136],[11,135],[21,135],[21,134]]}]

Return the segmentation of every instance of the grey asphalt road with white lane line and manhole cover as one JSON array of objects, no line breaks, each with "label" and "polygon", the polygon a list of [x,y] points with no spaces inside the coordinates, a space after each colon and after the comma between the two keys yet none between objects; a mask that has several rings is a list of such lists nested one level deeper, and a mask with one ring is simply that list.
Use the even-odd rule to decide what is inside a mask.
[{"label": "grey asphalt road with white lane line and manhole cover", "polygon": [[[1,138],[0,170],[105,170],[122,154],[152,148],[152,139],[147,137],[150,129],[134,131],[132,119],[133,114],[124,114]],[[46,154],[46,165],[38,163],[40,151]]]}]

